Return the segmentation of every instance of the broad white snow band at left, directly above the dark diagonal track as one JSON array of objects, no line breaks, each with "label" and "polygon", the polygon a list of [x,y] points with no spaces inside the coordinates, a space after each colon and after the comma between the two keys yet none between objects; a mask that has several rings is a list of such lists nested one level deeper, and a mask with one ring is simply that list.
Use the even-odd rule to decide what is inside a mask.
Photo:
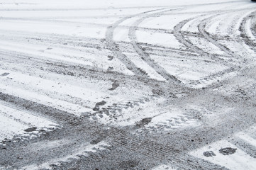
[{"label": "broad white snow band at left, directly above the dark diagonal track", "polygon": [[[63,83],[61,80],[49,80],[0,69],[0,74],[4,72],[9,72],[7,77],[0,77],[0,89],[5,93],[58,108],[74,115],[92,111],[92,108],[101,98],[106,98],[106,101],[109,100],[109,105],[120,101],[121,98],[128,100],[128,96],[115,95],[107,99],[110,94],[104,93],[96,86],[93,86],[91,82],[83,82],[87,85],[82,87],[74,83],[70,84],[70,82]],[[70,79],[70,81],[72,80]],[[108,86],[111,87],[111,84]],[[80,103],[67,101],[66,98],[70,98],[70,96],[77,98]]]}]

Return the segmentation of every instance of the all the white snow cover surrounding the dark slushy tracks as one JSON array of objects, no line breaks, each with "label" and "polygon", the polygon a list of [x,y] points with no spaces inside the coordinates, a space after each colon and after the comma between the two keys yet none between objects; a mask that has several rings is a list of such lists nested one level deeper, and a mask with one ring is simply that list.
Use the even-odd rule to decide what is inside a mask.
[{"label": "all the white snow cover surrounding the dark slushy tracks", "polygon": [[[211,88],[219,81],[231,79],[229,84],[217,84],[217,88],[208,91],[207,95],[233,97],[239,86],[247,89],[255,86],[255,79],[245,76],[233,79],[238,76],[238,70],[231,69],[255,66],[255,48],[243,42],[239,30],[243,18],[252,11],[255,6],[249,0],[147,0],[146,3],[145,0],[1,0],[0,92],[106,126],[135,127],[150,118],[151,121],[143,125],[144,130],[178,131],[203,123],[214,127],[221,123],[222,116],[233,112],[235,106],[216,106],[210,111],[205,103],[192,100],[194,96],[199,97],[197,90],[200,95],[201,88]],[[252,41],[255,35],[250,28],[254,22],[249,19],[245,23],[245,32]],[[182,23],[184,26],[176,30],[175,26]],[[206,23],[205,30],[201,23]],[[108,35],[109,32],[113,32],[113,36]],[[208,33],[210,35],[205,36]],[[108,41],[115,47],[108,47]],[[139,47],[136,49],[135,45]],[[142,52],[138,52],[140,47]],[[128,62],[121,57],[126,57],[123,60]],[[250,62],[245,64],[246,60]],[[36,61],[44,64],[42,69],[33,67]],[[135,68],[130,69],[130,62]],[[76,75],[47,70],[49,63],[60,64],[63,70],[74,71]],[[178,82],[165,79],[165,73],[161,74],[157,65],[182,83],[177,85]],[[85,69],[75,70],[75,67]],[[146,73],[143,80],[133,69]],[[118,84],[114,90],[111,89],[113,82]],[[170,94],[173,92],[177,96],[173,101],[179,104],[172,102],[168,94],[155,95],[152,89],[157,86],[160,89],[174,87]],[[194,96],[189,96],[190,90]],[[182,103],[187,96],[188,103]],[[217,96],[216,100],[219,98]],[[94,107],[101,101],[106,104],[95,111]],[[104,113],[104,108],[109,113]],[[201,113],[203,122],[193,118],[190,111]],[[36,111],[0,102],[0,141],[16,135],[36,135],[40,129],[59,126]],[[34,127],[35,132],[24,131]],[[256,146],[250,132],[239,132],[234,137]],[[31,146],[51,149],[69,142],[43,141]],[[96,152],[94,147],[103,149],[106,146],[107,142],[84,143],[74,150],[73,156],[57,157],[23,169],[48,169],[50,164],[68,162],[77,159],[78,155],[87,156],[86,152]],[[226,147],[235,148],[236,152],[221,154],[219,150]],[[216,156],[205,157],[206,151]],[[256,166],[254,158],[226,139],[195,149],[190,154],[228,169],[250,170]],[[162,164],[153,169],[173,167]]]}]

